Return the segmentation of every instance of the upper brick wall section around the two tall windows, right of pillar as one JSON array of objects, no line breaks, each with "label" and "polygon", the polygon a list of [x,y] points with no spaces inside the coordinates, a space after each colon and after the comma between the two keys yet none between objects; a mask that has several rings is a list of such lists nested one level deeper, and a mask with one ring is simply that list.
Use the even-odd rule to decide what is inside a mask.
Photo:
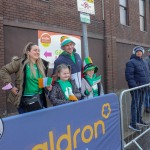
[{"label": "upper brick wall section around the two tall windows, right of pillar", "polygon": [[126,41],[130,44],[139,44],[149,46],[150,44],[150,2],[145,0],[146,3],[146,32],[140,31],[139,20],[139,1],[128,1],[129,6],[129,26],[121,25],[119,22],[119,7],[116,7],[116,26],[117,26],[117,39]]}]

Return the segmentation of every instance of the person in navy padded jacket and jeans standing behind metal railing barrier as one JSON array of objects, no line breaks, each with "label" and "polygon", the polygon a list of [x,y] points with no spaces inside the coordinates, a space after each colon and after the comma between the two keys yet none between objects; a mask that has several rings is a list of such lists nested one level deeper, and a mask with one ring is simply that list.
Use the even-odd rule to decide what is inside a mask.
[{"label": "person in navy padded jacket and jeans standing behind metal railing barrier", "polygon": [[[129,88],[134,88],[150,83],[148,63],[143,60],[144,48],[136,46],[133,49],[133,54],[126,64],[125,77]],[[147,88],[131,91],[131,122],[130,129],[141,131],[138,125],[148,126],[142,120],[142,105]]]}]

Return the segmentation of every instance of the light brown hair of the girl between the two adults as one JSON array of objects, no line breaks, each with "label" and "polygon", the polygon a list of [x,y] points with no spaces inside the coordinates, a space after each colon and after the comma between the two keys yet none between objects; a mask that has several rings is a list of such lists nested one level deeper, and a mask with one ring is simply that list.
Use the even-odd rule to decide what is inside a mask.
[{"label": "light brown hair of the girl between the two adults", "polygon": [[[66,64],[61,64],[58,65],[56,68],[56,73],[53,75],[53,81],[57,81],[59,79],[58,74],[63,70],[63,69],[69,69],[69,73],[71,75],[71,66],[66,65]],[[69,80],[71,79],[71,76],[69,78]]]}]

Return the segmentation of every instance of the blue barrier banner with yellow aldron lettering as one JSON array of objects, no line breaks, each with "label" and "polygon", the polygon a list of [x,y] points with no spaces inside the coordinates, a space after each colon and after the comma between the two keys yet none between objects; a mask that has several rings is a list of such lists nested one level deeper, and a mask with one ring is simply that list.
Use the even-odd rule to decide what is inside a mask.
[{"label": "blue barrier banner with yellow aldron lettering", "polygon": [[3,118],[0,150],[120,150],[115,94]]}]

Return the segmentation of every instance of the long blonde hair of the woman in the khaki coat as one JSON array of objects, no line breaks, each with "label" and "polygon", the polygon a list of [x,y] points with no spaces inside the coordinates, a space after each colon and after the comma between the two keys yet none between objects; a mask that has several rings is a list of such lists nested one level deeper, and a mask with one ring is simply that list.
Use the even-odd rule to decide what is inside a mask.
[{"label": "long blonde hair of the woman in the khaki coat", "polygon": [[[24,65],[29,64],[30,68],[31,68],[31,73],[36,77],[36,71],[34,69],[34,63],[30,60],[30,57],[27,54],[32,49],[32,47],[35,46],[35,45],[36,44],[34,44],[32,42],[29,42],[24,47],[23,55],[25,57]],[[36,65],[37,65],[37,68],[38,68],[39,72],[43,75],[43,77],[45,77],[45,72],[44,72],[45,66],[44,66],[44,64],[43,64],[43,62],[42,62],[40,57],[36,60]]]}]

